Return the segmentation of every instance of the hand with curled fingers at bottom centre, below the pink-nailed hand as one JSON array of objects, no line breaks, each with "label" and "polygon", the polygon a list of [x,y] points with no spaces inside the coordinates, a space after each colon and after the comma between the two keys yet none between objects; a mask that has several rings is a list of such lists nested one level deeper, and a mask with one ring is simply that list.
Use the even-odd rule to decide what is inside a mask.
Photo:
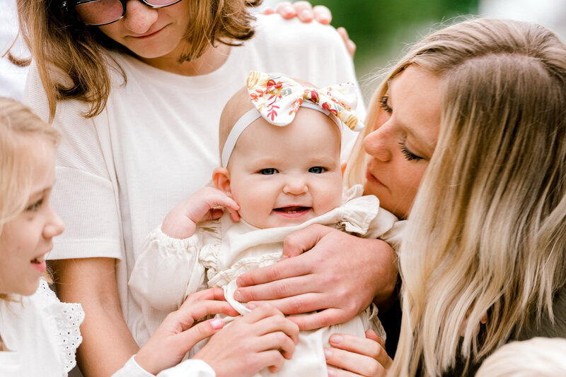
[{"label": "hand with curled fingers at bottom centre, below the pink-nailed hand", "polygon": [[253,376],[266,366],[279,371],[298,341],[299,327],[264,304],[210,338],[193,359],[206,361],[216,377]]}]

